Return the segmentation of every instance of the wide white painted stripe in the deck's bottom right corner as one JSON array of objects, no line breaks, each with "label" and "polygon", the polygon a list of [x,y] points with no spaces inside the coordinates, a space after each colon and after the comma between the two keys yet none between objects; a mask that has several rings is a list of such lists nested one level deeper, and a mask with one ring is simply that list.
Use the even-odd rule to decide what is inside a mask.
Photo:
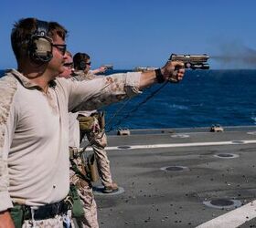
[{"label": "wide white painted stripe in the deck's bottom right corner", "polygon": [[235,228],[256,217],[256,201],[250,202],[236,210],[224,213],[219,217],[202,223],[196,228]]}]

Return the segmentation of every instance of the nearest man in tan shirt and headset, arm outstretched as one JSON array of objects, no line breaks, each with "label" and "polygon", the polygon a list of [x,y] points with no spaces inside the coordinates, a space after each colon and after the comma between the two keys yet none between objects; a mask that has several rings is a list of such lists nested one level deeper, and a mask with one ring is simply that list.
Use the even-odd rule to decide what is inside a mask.
[{"label": "nearest man in tan shirt and headset, arm outstretched", "polygon": [[58,23],[36,18],[21,19],[12,30],[17,70],[0,79],[1,228],[14,227],[14,204],[25,212],[23,227],[69,226],[69,110],[98,109],[184,76],[182,63],[168,62],[158,71],[91,81],[57,78],[64,70],[66,35]]}]

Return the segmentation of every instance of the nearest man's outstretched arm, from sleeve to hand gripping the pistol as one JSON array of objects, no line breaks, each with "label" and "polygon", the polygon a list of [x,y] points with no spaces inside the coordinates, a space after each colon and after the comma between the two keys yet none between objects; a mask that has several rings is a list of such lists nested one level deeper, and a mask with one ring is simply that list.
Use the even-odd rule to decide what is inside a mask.
[{"label": "nearest man's outstretched arm, from sleeve to hand gripping the pistol", "polygon": [[[168,61],[164,67],[144,73],[127,72],[90,81],[73,81],[69,90],[69,104],[71,105],[69,110],[75,112],[99,109],[124,98],[133,98],[142,93],[141,89],[157,82],[178,82],[183,78],[184,73],[183,63]],[[63,82],[69,83],[70,81],[64,80]]]}]

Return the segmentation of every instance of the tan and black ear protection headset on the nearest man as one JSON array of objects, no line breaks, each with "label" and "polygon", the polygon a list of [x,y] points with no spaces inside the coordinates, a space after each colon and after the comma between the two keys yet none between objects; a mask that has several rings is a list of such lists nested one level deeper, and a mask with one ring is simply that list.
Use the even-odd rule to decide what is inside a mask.
[{"label": "tan and black ear protection headset on the nearest man", "polygon": [[28,43],[29,57],[39,63],[52,58],[52,39],[48,36],[48,22],[37,20],[37,30]]}]

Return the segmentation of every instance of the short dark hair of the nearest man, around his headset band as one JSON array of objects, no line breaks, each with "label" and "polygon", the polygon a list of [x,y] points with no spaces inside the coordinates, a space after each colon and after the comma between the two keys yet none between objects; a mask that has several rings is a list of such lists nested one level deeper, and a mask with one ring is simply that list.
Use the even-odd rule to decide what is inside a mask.
[{"label": "short dark hair of the nearest man, around his headset band", "polygon": [[[14,24],[11,33],[11,43],[17,61],[23,57],[23,53],[27,54],[29,40],[36,30],[37,18],[34,17],[22,18]],[[60,26],[57,22],[48,22],[48,36],[50,38],[58,35],[65,40],[67,34],[68,31],[64,26]]]}]

